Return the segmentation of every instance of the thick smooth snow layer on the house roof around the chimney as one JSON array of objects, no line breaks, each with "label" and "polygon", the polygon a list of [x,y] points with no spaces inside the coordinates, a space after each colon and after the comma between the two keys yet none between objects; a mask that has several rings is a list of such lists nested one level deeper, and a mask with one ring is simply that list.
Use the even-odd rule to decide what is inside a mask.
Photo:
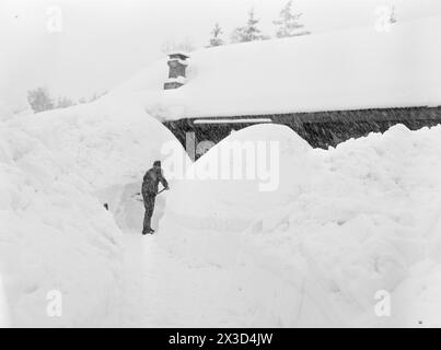
[{"label": "thick smooth snow layer on the house roof around the chimney", "polygon": [[206,48],[163,90],[166,58],[116,88],[159,119],[441,104],[441,18]]}]

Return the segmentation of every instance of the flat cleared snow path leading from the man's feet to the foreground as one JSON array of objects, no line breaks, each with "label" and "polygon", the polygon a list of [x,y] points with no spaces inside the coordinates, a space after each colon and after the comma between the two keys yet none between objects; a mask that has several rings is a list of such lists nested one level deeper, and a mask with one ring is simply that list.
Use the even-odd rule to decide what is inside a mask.
[{"label": "flat cleared snow path leading from the man's feet to the foreground", "polygon": [[126,233],[125,236],[123,305],[117,326],[249,324],[249,312],[244,310],[243,295],[232,281],[231,271],[184,261],[160,247],[155,235]]}]

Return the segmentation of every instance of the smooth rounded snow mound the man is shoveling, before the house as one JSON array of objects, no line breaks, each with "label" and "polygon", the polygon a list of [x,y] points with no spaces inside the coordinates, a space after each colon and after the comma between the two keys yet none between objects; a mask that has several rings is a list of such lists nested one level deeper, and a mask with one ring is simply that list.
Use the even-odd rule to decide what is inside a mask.
[{"label": "smooth rounded snow mound the man is shoveling, before the house", "polygon": [[[309,149],[306,141],[281,125],[255,125],[234,132],[174,183],[167,213],[195,229],[223,224],[229,231],[244,230],[256,215],[289,202],[290,189],[300,180],[291,175],[302,166]],[[228,162],[222,163],[224,159]],[[195,215],[198,220],[193,220]]]}]

